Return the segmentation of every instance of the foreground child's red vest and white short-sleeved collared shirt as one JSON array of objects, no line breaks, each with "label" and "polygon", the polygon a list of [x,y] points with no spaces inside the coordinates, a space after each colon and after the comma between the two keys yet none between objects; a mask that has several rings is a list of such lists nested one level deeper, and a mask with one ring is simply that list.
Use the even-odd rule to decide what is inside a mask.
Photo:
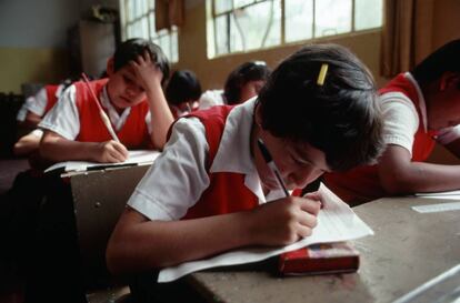
[{"label": "foreground child's red vest and white short-sleeved collared shirt", "polygon": [[128,205],[150,220],[173,221],[252,209],[284,196],[263,194],[250,151],[256,98],[179,119],[163,153]]}]

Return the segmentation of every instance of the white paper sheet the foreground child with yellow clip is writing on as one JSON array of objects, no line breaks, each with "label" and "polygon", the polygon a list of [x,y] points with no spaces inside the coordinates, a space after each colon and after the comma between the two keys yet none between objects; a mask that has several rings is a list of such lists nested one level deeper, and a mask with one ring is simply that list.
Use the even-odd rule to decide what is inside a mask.
[{"label": "white paper sheet the foreground child with yellow clip is writing on", "polygon": [[340,198],[321,184],[323,208],[318,214],[318,225],[311,236],[282,248],[249,248],[234,250],[207,260],[186,262],[162,270],[158,282],[174,281],[186,274],[226,265],[237,265],[266,260],[283,252],[293,251],[314,243],[348,241],[373,234],[372,230]]}]

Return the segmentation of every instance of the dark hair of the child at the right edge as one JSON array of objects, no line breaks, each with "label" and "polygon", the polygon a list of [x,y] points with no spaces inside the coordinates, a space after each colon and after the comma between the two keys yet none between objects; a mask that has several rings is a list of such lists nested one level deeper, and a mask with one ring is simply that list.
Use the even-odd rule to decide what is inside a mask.
[{"label": "dark hair of the child at the right edge", "polygon": [[411,71],[420,84],[438,80],[447,72],[460,72],[460,39],[452,40],[439,48]]}]

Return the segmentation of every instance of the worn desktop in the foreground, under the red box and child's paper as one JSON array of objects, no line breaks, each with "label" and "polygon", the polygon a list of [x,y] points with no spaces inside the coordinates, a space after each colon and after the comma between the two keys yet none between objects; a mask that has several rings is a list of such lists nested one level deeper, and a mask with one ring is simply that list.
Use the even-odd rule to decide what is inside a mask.
[{"label": "worn desktop in the foreground, under the red box and child's paper", "polygon": [[392,302],[460,262],[460,213],[418,213],[446,201],[380,199],[354,208],[376,235],[353,244],[358,273],[277,277],[263,271],[200,272],[188,281],[209,302]]}]

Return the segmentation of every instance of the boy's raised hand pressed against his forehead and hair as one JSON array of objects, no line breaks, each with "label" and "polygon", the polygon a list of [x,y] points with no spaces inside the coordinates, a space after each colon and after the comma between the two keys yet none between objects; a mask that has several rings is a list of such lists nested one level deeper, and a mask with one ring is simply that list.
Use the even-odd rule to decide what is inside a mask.
[{"label": "boy's raised hand pressed against his forehead and hair", "polygon": [[146,50],[142,55],[138,55],[136,61],[130,61],[136,78],[140,85],[147,91],[152,84],[160,84],[163,79],[163,73],[154,61],[152,61],[150,53]]}]

